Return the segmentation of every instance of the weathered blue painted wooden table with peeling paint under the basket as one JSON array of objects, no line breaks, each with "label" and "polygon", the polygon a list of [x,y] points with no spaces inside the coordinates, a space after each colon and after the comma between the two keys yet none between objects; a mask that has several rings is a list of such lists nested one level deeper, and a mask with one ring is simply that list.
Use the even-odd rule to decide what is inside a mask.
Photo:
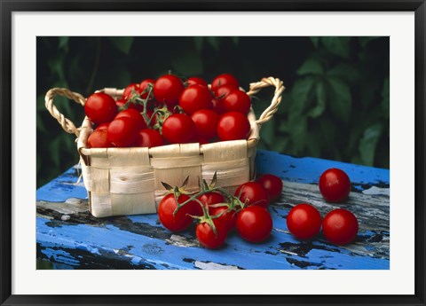
[{"label": "weathered blue painted wooden table with peeling paint under the basket", "polygon": [[[256,167],[284,184],[281,200],[269,208],[273,230],[264,243],[231,233],[225,247],[208,250],[193,228],[172,233],[155,214],[95,218],[73,167],[37,190],[37,258],[57,269],[390,269],[389,170],[262,150]],[[318,188],[320,174],[332,167],[343,169],[352,182],[350,199],[339,205],[325,202]],[[301,202],[314,205],[321,216],[338,207],[351,210],[359,218],[355,242],[337,247],[321,234],[311,241],[295,239],[286,216]]]}]

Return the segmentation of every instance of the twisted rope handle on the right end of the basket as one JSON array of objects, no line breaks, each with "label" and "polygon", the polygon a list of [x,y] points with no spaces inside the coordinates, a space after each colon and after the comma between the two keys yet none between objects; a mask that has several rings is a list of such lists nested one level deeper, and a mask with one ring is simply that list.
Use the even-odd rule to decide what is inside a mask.
[{"label": "twisted rope handle on the right end of the basket", "polygon": [[281,103],[282,92],[286,88],[284,87],[280,79],[273,78],[272,76],[270,76],[270,77],[264,77],[260,82],[250,83],[250,90],[247,92],[248,96],[251,96],[268,86],[274,86],[275,92],[272,98],[271,105],[268,106],[264,110],[264,113],[262,113],[260,117],[256,120],[256,123],[259,126],[259,128],[264,124],[264,122],[270,121],[273,114],[277,113],[278,106],[280,106],[280,103]]}]

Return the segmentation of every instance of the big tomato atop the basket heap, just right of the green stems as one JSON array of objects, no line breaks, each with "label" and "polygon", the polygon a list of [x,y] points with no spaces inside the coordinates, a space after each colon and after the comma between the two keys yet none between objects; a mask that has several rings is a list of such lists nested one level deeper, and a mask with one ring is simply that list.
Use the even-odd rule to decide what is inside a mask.
[{"label": "big tomato atop the basket heap, just right of the green stems", "polygon": [[176,75],[162,75],[154,83],[154,98],[173,108],[179,104],[180,94],[184,90],[184,83]]}]

